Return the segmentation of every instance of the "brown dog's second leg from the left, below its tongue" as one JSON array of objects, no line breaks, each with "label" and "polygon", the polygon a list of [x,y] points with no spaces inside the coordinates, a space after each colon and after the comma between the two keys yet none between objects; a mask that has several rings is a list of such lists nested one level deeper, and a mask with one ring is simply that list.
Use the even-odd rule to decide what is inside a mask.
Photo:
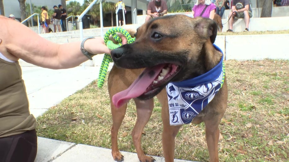
[{"label": "brown dog's second leg from the left, below its tongue", "polygon": [[144,151],[141,147],[141,135],[144,130],[144,126],[148,123],[149,118],[153,111],[153,98],[145,101],[134,99],[136,103],[136,125],[134,126],[131,136],[136,148],[136,153],[140,161],[153,162],[155,159],[151,156],[144,155]]}]

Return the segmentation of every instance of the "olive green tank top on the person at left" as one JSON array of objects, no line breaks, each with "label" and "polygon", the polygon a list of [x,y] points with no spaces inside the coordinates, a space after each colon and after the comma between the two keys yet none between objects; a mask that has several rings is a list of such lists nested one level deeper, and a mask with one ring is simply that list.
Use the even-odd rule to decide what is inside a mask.
[{"label": "olive green tank top on the person at left", "polygon": [[19,62],[0,58],[0,138],[35,128]]}]

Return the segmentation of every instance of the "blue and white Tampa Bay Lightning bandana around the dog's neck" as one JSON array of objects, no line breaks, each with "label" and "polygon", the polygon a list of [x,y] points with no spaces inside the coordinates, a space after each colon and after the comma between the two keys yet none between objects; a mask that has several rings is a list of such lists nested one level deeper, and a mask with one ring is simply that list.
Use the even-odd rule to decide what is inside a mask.
[{"label": "blue and white Tampa Bay Lightning bandana around the dog's neck", "polygon": [[[216,45],[214,47],[223,53]],[[219,92],[225,79],[223,57],[218,65],[207,73],[167,85],[171,125],[191,123]]]}]

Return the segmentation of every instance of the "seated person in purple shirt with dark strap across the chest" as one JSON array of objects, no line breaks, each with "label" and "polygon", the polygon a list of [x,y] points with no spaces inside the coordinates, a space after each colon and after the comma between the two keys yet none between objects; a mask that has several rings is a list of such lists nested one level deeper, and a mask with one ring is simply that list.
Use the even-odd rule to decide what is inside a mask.
[{"label": "seated person in purple shirt with dark strap across the chest", "polygon": [[196,0],[196,3],[192,8],[193,17],[201,16],[214,19],[215,12],[216,5],[212,3],[211,0]]}]

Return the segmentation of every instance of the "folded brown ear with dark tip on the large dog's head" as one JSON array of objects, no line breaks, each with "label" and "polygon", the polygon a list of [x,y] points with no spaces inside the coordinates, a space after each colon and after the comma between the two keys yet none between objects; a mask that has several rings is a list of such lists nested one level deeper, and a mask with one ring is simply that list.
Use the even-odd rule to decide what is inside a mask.
[{"label": "folded brown ear with dark tip on the large dog's head", "polygon": [[195,31],[199,36],[208,39],[210,38],[211,42],[214,43],[217,36],[217,23],[208,18],[197,18],[194,26]]}]

